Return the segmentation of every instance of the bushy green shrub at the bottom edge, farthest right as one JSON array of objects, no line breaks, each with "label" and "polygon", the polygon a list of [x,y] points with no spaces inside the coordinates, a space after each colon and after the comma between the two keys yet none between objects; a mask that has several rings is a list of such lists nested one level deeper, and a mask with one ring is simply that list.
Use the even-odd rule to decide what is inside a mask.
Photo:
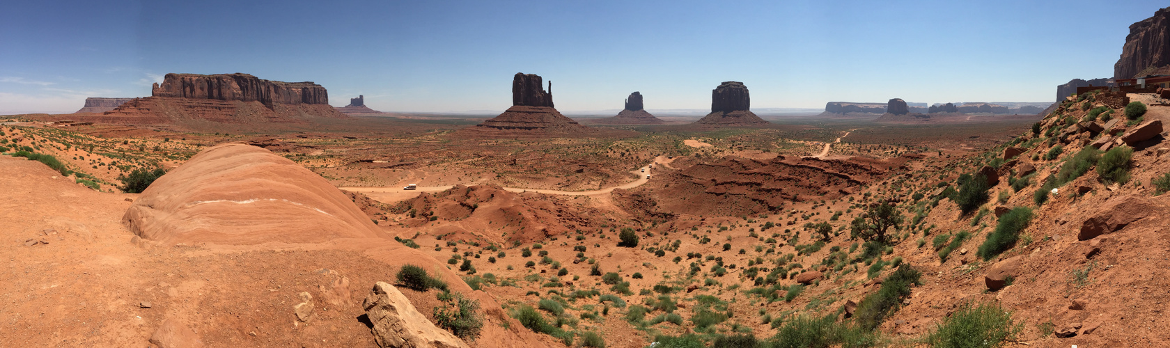
[{"label": "bushy green shrub at the bottom edge, farthest right", "polygon": [[1023,330],[999,305],[964,304],[927,335],[932,347],[1003,347]]}]

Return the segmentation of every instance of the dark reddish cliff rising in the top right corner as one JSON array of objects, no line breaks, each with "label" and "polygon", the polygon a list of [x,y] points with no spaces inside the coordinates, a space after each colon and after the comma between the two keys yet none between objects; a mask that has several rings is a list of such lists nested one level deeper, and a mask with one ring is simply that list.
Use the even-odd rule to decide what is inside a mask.
[{"label": "dark reddish cliff rising in the top right corner", "polygon": [[1170,7],[1129,26],[1121,57],[1113,65],[1113,77],[1135,78],[1166,65],[1170,65]]}]

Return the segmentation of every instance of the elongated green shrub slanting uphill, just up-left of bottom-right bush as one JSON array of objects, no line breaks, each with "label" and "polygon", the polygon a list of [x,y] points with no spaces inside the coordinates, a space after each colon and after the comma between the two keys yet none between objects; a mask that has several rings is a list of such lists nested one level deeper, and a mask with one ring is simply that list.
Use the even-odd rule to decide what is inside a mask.
[{"label": "elongated green shrub slanting uphill, just up-left of bottom-right bush", "polygon": [[858,325],[867,330],[876,328],[886,318],[897,312],[902,305],[902,299],[910,295],[910,285],[920,284],[918,272],[909,264],[902,264],[894,272],[886,277],[878,292],[867,295],[858,304],[854,312]]}]

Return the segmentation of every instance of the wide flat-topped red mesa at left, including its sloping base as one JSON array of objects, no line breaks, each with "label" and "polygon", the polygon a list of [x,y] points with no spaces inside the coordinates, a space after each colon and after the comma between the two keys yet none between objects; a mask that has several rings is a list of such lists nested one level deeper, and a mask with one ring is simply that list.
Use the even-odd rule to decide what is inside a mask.
[{"label": "wide flat-topped red mesa at left, including its sloping base", "polygon": [[117,124],[305,123],[350,118],[329,105],[325,88],[312,82],[261,79],[248,74],[167,74],[151,97],[135,98],[94,120]]}]

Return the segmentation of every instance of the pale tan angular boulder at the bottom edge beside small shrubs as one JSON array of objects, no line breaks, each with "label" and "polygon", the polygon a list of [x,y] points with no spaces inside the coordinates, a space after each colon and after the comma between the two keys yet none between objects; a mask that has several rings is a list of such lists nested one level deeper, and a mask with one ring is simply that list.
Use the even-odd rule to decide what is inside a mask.
[{"label": "pale tan angular boulder at the bottom edge beside small shrubs", "polygon": [[452,333],[431,323],[431,320],[414,308],[411,300],[385,281],[374,284],[362,307],[373,323],[371,330],[379,347],[468,347]]}]

